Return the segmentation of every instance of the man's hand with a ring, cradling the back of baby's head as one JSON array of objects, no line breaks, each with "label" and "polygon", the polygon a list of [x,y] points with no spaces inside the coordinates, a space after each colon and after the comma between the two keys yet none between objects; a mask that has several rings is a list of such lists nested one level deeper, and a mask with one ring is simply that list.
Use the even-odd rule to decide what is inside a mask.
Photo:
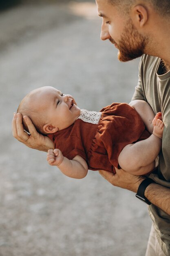
[{"label": "man's hand with a ring, cradling the back of baby's head", "polygon": [[30,135],[24,131],[22,125],[22,115],[20,113],[14,113],[12,120],[12,131],[15,139],[18,139],[29,148],[34,148],[45,152],[47,152],[50,148],[54,148],[53,141],[51,141],[49,137],[38,133],[29,117],[24,116],[24,120],[29,128]]}]

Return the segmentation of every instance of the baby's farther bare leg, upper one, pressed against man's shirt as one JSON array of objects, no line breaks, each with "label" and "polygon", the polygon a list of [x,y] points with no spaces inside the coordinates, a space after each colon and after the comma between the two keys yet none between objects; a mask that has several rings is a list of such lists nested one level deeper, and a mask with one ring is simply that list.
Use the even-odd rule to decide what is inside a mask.
[{"label": "baby's farther bare leg, upper one, pressed against man's shirt", "polygon": [[[153,125],[152,120],[155,117],[155,114],[150,107],[150,105],[143,100],[134,100],[129,103],[132,108],[138,112],[139,116],[141,117],[142,121],[144,122],[147,130],[152,133],[153,132]],[[161,119],[161,114],[159,115],[159,119]]]}]

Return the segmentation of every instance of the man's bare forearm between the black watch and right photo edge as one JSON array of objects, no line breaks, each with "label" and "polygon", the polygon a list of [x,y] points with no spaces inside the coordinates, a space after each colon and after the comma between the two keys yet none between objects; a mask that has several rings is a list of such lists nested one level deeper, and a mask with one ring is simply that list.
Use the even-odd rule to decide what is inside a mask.
[{"label": "man's bare forearm between the black watch and right photo edge", "polygon": [[170,215],[170,189],[157,183],[150,184],[145,190],[145,197]]}]

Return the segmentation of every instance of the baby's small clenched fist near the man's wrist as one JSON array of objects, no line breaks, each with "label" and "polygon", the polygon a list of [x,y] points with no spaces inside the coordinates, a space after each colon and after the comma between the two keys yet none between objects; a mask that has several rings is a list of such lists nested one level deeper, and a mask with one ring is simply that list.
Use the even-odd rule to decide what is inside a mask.
[{"label": "baby's small clenched fist near the man's wrist", "polygon": [[64,156],[60,151],[60,149],[55,148],[54,150],[53,149],[48,150],[46,159],[50,165],[59,166],[62,163]]}]

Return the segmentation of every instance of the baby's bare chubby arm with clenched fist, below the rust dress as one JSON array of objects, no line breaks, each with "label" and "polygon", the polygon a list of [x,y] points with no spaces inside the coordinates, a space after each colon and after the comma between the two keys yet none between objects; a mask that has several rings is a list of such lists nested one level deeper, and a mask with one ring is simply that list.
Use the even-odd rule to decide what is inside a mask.
[{"label": "baby's bare chubby arm with clenched fist, below the rust dress", "polygon": [[50,165],[57,166],[64,175],[71,178],[82,179],[86,177],[88,172],[88,165],[81,156],[76,155],[72,160],[69,160],[57,148],[48,150],[47,161]]}]

